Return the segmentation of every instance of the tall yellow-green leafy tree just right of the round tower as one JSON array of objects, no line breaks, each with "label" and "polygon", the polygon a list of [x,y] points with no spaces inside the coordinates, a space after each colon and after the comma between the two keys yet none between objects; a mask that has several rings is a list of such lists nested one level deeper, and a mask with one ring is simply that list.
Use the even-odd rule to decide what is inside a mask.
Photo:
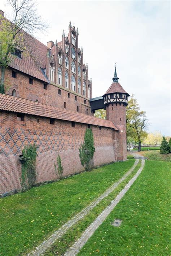
[{"label": "tall yellow-green leafy tree just right of the round tower", "polygon": [[141,142],[147,136],[148,120],[146,119],[145,112],[140,111],[139,104],[134,99],[134,95],[131,95],[131,99],[128,101],[126,123],[127,138],[132,138],[132,140],[137,142],[139,144],[138,151],[141,151]]}]

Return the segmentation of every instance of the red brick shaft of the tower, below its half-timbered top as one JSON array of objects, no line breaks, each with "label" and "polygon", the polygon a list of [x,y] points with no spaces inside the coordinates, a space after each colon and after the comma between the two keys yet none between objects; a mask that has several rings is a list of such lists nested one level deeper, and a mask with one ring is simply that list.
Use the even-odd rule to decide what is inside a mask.
[{"label": "red brick shaft of the tower, below its half-timbered top", "polygon": [[123,104],[109,104],[106,106],[106,118],[115,123],[119,128],[117,133],[117,161],[125,161],[127,159],[127,137],[126,137],[126,106]]}]

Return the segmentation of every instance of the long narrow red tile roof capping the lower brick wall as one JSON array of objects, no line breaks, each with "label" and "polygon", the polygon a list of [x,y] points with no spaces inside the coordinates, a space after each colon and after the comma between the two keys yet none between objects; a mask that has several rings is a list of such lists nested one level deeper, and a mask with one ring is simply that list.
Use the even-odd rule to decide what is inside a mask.
[{"label": "long narrow red tile roof capping the lower brick wall", "polygon": [[112,121],[103,120],[86,114],[77,113],[74,111],[52,107],[50,105],[36,103],[34,101],[25,100],[17,97],[12,97],[5,94],[0,94],[0,109],[12,112],[31,114],[34,116],[43,116],[56,118],[60,120],[73,121],[78,123],[88,123],[91,125],[104,126],[119,129]]}]

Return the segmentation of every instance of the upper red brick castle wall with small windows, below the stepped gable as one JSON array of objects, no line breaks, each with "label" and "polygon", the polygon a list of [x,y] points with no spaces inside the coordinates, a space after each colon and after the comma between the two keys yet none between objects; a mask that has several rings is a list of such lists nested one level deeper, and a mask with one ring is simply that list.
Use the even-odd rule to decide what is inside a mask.
[{"label": "upper red brick castle wall with small windows, below the stepped gable", "polygon": [[[1,71],[0,71],[1,75]],[[61,86],[48,84],[47,90],[43,88],[44,82],[33,78],[33,84],[29,83],[29,75],[26,75],[20,71],[17,71],[17,78],[12,77],[12,69],[5,70],[5,93],[12,95],[12,91],[16,90],[16,96],[28,99],[32,101],[38,100],[39,103],[52,105],[58,108],[64,108],[64,102],[66,102],[66,109],[77,112],[77,107],[79,107],[79,112],[89,115],[94,115],[91,113],[91,108],[89,105],[89,100],[79,94],[74,93],[69,89],[65,89]],[[58,90],[61,90],[61,95],[58,94]],[[68,93],[70,93],[70,98],[68,98]],[[75,100],[75,96],[77,100]],[[86,104],[84,104],[86,100]]]}]

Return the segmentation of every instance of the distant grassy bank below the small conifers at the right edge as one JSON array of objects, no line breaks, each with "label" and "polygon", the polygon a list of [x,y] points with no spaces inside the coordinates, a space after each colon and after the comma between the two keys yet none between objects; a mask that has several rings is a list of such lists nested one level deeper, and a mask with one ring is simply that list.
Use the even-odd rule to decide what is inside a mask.
[{"label": "distant grassy bank below the small conifers at the right edge", "polygon": [[163,155],[159,150],[142,152],[141,155],[148,157],[149,160],[171,162],[171,153]]}]

